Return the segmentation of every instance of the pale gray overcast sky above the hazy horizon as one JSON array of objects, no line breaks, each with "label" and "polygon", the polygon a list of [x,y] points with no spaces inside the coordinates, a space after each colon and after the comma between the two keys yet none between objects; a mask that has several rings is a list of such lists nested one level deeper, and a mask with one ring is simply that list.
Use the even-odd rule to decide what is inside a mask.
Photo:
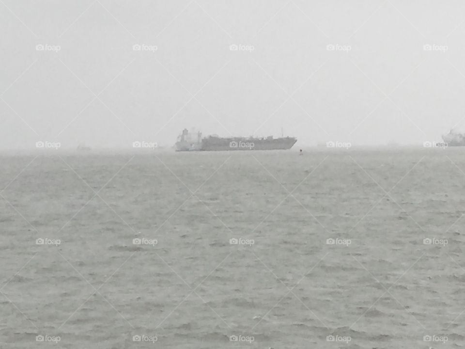
[{"label": "pale gray overcast sky above the hazy horizon", "polygon": [[465,129],[461,0],[1,0],[0,29],[2,149]]}]

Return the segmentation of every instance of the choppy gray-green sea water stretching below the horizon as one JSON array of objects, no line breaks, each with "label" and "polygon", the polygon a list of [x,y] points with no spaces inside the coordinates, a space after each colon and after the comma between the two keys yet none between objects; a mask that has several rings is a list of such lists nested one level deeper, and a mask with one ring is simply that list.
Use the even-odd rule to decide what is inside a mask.
[{"label": "choppy gray-green sea water stretching below the horizon", "polygon": [[3,154],[0,348],[463,348],[464,150]]}]

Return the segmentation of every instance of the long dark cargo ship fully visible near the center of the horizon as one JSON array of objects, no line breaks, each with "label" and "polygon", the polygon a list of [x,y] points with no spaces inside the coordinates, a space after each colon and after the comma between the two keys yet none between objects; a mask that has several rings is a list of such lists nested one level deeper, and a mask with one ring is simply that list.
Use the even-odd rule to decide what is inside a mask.
[{"label": "long dark cargo ship fully visible near the center of the horizon", "polygon": [[215,151],[215,150],[284,150],[291,149],[297,142],[294,137],[266,138],[231,137],[221,138],[210,135],[202,138],[201,132],[189,133],[185,128],[178,136],[176,151]]}]

